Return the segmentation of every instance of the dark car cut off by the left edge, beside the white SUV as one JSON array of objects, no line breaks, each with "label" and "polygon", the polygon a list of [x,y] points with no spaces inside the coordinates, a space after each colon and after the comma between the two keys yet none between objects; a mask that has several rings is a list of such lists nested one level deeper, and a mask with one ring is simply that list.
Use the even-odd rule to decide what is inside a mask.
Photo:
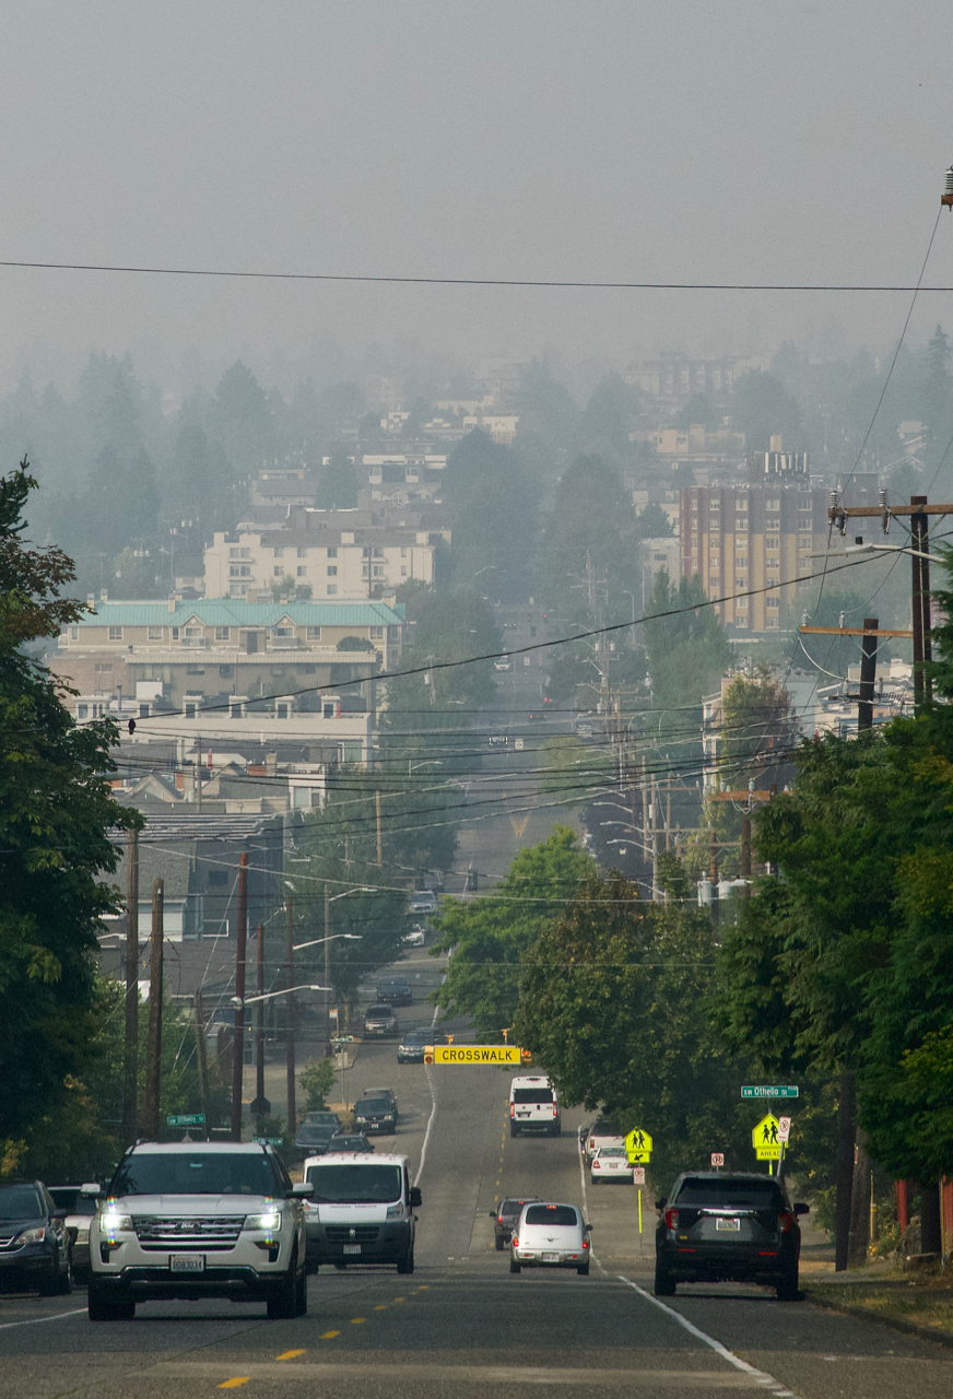
[{"label": "dark car cut off by the left edge, beside the white SUV", "polygon": [[42,1297],[73,1291],[66,1210],[42,1181],[0,1185],[0,1281]]}]

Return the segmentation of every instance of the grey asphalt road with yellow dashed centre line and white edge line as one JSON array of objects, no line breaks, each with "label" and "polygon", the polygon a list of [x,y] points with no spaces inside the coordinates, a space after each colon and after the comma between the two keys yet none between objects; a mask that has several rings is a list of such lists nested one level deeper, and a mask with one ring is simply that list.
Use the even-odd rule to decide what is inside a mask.
[{"label": "grey asphalt road with yellow dashed centre line and white edge line", "polygon": [[[425,1021],[418,1004],[406,1021]],[[308,1315],[269,1322],[260,1305],[147,1302],[134,1322],[92,1325],[85,1294],[0,1298],[0,1395],[182,1399],[237,1388],[294,1399],[444,1399],[533,1392],[785,1399],[949,1399],[953,1353],[872,1322],[782,1304],[746,1287],[680,1287],[651,1297],[654,1210],[638,1231],[628,1185],[584,1179],[567,1112],[560,1139],[511,1139],[509,1073],[396,1063],[364,1046],[348,1094],[389,1084],[393,1143],[423,1191],[417,1270],[322,1269]],[[511,1276],[488,1212],[504,1193],[582,1205],[593,1267]]]}]

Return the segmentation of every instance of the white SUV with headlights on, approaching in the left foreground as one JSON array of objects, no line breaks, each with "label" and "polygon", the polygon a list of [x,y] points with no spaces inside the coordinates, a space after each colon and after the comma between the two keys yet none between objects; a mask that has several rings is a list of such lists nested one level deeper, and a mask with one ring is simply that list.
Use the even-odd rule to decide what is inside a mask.
[{"label": "white SUV with headlights on, approaching in the left foreground", "polygon": [[90,1224],[90,1321],[132,1321],[136,1302],[169,1297],[264,1301],[269,1319],[302,1316],[312,1189],[292,1185],[257,1142],[130,1147]]}]

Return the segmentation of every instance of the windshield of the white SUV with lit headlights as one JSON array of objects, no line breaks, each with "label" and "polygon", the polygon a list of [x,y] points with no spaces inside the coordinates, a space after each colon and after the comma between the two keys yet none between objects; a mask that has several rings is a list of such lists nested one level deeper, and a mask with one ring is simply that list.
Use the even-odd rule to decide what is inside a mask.
[{"label": "windshield of the white SUV with lit headlights", "polygon": [[144,1151],[133,1153],[109,1186],[113,1199],[126,1195],[266,1195],[283,1196],[284,1186],[263,1151]]}]

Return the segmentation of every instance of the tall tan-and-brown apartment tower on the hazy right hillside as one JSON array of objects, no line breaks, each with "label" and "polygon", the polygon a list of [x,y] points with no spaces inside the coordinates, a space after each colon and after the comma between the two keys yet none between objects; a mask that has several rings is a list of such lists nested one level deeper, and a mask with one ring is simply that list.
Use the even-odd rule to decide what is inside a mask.
[{"label": "tall tan-and-brown apartment tower on the hazy right hillside", "polygon": [[[682,575],[701,576],[733,632],[778,631],[791,585],[827,547],[828,492],[799,484],[691,487],[679,497]],[[761,589],[765,589],[764,592]],[[750,595],[750,596],[737,596]]]}]

